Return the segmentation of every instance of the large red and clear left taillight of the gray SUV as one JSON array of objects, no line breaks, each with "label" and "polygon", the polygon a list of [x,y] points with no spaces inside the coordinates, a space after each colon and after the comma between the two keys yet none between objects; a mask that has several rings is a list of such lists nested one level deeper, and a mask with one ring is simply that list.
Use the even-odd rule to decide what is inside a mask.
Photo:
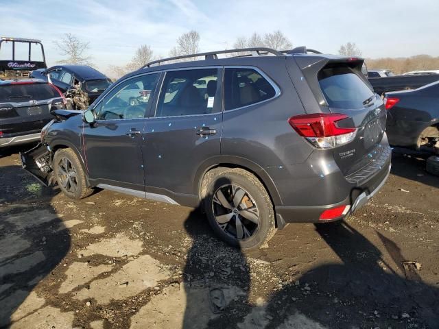
[{"label": "large red and clear left taillight of the gray SUV", "polygon": [[318,113],[297,115],[288,123],[307,141],[320,149],[337,147],[353,141],[357,128],[339,127],[338,121],[348,119],[346,114]]}]

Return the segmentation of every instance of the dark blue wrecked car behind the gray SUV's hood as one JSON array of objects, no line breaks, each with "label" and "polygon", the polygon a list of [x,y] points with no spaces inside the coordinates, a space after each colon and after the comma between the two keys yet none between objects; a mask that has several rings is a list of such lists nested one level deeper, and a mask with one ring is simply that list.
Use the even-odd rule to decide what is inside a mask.
[{"label": "dark blue wrecked car behind the gray SUV's hood", "polygon": [[56,65],[31,72],[31,77],[46,81],[47,76],[62,93],[80,82],[82,90],[88,95],[89,103],[93,103],[111,84],[106,75],[87,65]]}]

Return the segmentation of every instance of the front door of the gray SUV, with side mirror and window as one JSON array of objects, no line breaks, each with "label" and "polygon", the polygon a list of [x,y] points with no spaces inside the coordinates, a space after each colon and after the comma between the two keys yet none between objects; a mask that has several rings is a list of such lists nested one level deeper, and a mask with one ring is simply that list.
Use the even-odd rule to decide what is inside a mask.
[{"label": "front door of the gray SUV, with side mirror and window", "polygon": [[144,191],[141,132],[160,74],[138,75],[121,82],[95,107],[95,124],[84,127],[86,164],[94,184]]}]

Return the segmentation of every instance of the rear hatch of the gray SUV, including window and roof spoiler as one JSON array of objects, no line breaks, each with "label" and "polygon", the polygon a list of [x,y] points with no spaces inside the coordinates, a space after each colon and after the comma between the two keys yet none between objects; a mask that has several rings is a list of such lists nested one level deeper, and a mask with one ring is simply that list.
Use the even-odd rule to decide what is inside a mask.
[{"label": "rear hatch of the gray SUV, including window and roof spoiler", "polygon": [[322,59],[321,56],[312,60],[313,56],[310,56],[313,64],[309,65],[309,60],[305,60],[307,57],[296,60],[317,101],[315,107],[307,108],[307,112],[344,114],[346,118],[337,121],[337,126],[356,128],[355,138],[349,143],[327,149],[333,153],[342,173],[353,175],[368,164],[380,162],[383,152],[388,152],[388,147],[381,145],[386,113],[381,97],[373,92],[361,73],[363,60]]}]

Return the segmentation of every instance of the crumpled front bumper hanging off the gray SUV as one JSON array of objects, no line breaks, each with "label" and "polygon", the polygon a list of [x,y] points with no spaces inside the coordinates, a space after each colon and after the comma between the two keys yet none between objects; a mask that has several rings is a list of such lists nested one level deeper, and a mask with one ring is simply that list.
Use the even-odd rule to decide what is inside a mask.
[{"label": "crumpled front bumper hanging off the gray SUV", "polygon": [[29,151],[20,152],[21,167],[34,178],[50,186],[54,180],[54,171],[51,168],[51,151],[45,145],[39,143]]}]

